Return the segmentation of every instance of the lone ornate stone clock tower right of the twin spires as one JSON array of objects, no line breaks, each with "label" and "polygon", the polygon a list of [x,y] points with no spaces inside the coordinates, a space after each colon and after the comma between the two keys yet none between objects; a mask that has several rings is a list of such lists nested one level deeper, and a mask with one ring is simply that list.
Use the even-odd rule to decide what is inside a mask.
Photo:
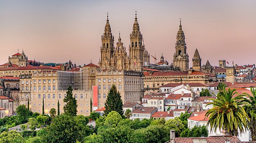
[{"label": "lone ornate stone clock tower right of the twin spires", "polygon": [[177,33],[177,42],[175,44],[175,53],[173,55],[173,65],[174,67],[179,67],[181,71],[188,71],[188,61],[189,59],[185,42],[185,34],[182,30],[180,20],[179,31]]}]

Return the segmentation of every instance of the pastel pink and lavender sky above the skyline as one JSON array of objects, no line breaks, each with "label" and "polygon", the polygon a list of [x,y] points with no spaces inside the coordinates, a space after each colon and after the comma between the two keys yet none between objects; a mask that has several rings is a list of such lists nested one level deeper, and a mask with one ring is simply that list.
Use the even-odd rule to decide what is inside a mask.
[{"label": "pastel pink and lavender sky above the skyline", "polygon": [[18,48],[29,60],[97,64],[106,13],[115,43],[120,31],[128,50],[135,10],[146,50],[158,60],[163,53],[172,63],[181,18],[189,67],[196,48],[202,65],[255,63],[256,0],[1,0],[0,64]]}]

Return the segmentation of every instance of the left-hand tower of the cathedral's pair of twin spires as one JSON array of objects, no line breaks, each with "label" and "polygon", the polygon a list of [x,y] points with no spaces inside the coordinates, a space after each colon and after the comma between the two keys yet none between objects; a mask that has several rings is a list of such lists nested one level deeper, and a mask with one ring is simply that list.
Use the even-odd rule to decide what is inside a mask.
[{"label": "left-hand tower of the cathedral's pair of twin spires", "polygon": [[101,35],[100,46],[100,61],[99,66],[103,69],[112,69],[110,66],[110,59],[114,52],[114,36],[111,33],[109,24],[109,16],[107,16],[107,23],[105,25],[104,34]]}]

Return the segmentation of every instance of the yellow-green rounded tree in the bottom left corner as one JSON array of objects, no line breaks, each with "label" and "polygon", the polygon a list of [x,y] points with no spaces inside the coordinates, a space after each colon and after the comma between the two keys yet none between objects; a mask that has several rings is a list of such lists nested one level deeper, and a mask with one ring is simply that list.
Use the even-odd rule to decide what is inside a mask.
[{"label": "yellow-green rounded tree in the bottom left corner", "polygon": [[25,143],[25,140],[16,130],[11,130],[0,134],[0,143]]}]

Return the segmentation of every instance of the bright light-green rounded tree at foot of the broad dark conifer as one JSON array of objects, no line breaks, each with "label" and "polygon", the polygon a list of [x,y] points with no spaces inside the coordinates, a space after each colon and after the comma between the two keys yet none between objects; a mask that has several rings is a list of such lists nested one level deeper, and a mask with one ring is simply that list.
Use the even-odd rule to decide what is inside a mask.
[{"label": "bright light-green rounded tree at foot of the broad dark conifer", "polygon": [[122,120],[121,115],[118,112],[111,111],[106,117],[104,125],[107,127],[116,127],[120,120]]}]

